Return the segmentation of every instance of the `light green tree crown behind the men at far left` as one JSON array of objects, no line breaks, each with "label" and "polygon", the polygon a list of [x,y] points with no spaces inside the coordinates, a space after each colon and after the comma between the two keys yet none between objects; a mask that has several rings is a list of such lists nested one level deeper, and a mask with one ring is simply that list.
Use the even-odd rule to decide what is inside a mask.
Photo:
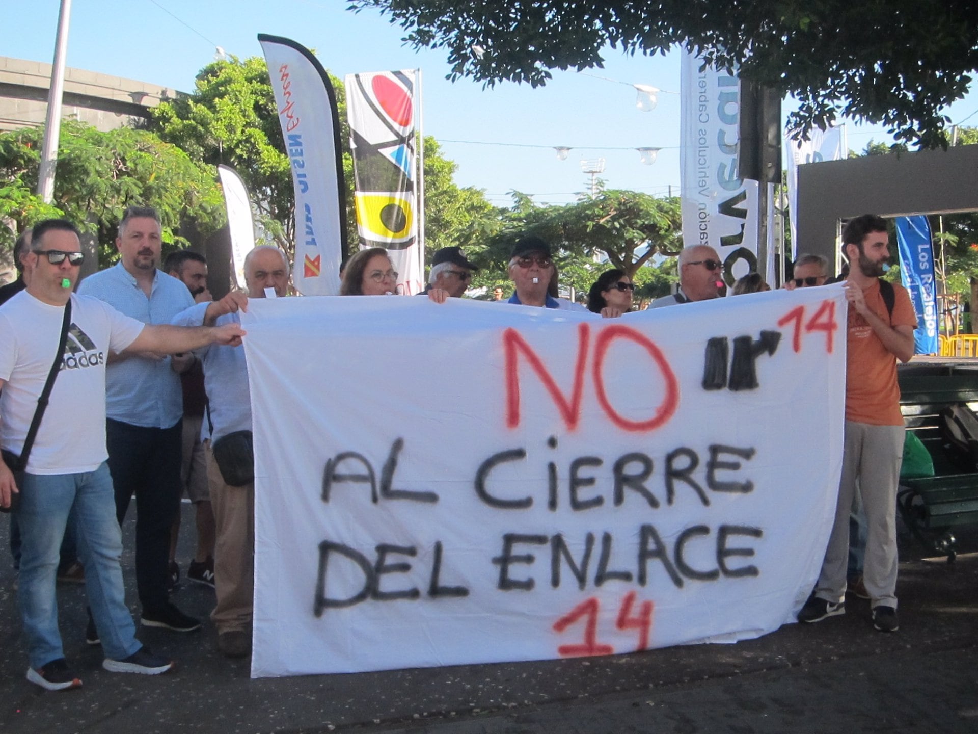
[{"label": "light green tree crown behind the men at far left", "polygon": [[32,194],[37,186],[43,128],[0,135],[0,240],[13,241],[40,219],[65,216],[97,237],[100,262],[117,257],[118,218],[130,205],[155,206],[164,240],[186,244],[180,224],[196,220],[206,235],[224,224],[224,200],[210,169],[146,130],[101,132],[66,119],[62,123],[53,204]]}]

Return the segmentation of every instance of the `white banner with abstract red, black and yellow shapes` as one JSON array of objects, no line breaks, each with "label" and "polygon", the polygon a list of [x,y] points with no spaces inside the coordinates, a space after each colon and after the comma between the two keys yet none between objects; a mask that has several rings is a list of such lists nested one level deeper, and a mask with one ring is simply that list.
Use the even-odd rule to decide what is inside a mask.
[{"label": "white banner with abstract red, black and yellow shapes", "polygon": [[418,239],[415,71],[347,74],[346,118],[361,248],[386,248],[398,293],[424,287]]}]

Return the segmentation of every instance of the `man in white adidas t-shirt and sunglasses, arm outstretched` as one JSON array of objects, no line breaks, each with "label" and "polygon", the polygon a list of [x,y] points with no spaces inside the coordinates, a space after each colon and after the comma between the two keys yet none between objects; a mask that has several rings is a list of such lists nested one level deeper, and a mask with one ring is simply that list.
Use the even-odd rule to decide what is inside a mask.
[{"label": "man in white adidas t-shirt and sunglasses, arm outstretched", "polygon": [[65,305],[71,321],[62,366],[18,486],[0,462],[0,506],[20,494],[22,530],[20,606],[30,667],[27,680],[47,689],[76,688],[81,681],[65,661],[58,630],[55,575],[69,513],[78,528],[92,616],[113,672],[156,674],[172,661],[135,638],[125,605],[122,536],[106,464],[106,360],[125,349],[184,352],[206,344],[241,344],[237,324],[182,329],[146,326],[97,298],[71,294],[84,253],[78,231],[65,219],[34,227],[25,257],[27,289],[0,307],[0,445],[22,452],[37,399],[55,360]]}]

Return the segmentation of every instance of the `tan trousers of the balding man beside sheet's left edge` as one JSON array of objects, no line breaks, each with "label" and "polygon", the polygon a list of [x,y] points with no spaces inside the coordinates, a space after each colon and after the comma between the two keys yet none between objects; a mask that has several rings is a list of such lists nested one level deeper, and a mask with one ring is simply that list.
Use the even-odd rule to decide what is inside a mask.
[{"label": "tan trousers of the balding man beside sheet's left edge", "polygon": [[210,441],[204,441],[204,445],[215,528],[217,606],[210,619],[218,634],[232,629],[250,632],[254,597],[254,482],[228,486],[214,461]]}]

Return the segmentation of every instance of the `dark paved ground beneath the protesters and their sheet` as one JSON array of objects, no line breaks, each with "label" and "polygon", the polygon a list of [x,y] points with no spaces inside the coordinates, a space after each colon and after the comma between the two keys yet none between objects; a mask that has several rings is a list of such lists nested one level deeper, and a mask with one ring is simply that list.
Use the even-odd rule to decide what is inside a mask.
[{"label": "dark paved ground beneath the protesters and their sheet", "polygon": [[[192,521],[186,512],[184,572]],[[356,675],[251,680],[246,662],[216,652],[209,621],[189,634],[140,630],[178,660],[172,673],[112,674],[100,649],[84,642],[83,588],[62,584],[66,654],[84,680],[67,693],[24,679],[6,518],[0,548],[0,732],[978,731],[978,535],[962,538],[971,552],[954,565],[923,560],[902,537],[895,634],[874,631],[868,602],[850,597],[844,617],[736,645]],[[123,569],[134,602],[131,552]],[[174,601],[205,617],[213,592],[184,582]]]}]

